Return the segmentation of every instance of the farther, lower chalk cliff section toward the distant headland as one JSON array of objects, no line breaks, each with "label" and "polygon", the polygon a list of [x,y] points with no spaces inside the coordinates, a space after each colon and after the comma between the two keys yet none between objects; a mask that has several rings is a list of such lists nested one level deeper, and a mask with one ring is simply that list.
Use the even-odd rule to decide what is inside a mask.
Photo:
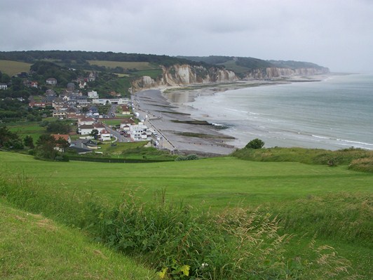
[{"label": "farther, lower chalk cliff section toward the distant headland", "polygon": [[318,74],[327,74],[329,69],[325,67],[320,68],[279,68],[269,67],[266,69],[253,69],[245,76],[246,79],[273,79],[288,76],[311,76]]}]

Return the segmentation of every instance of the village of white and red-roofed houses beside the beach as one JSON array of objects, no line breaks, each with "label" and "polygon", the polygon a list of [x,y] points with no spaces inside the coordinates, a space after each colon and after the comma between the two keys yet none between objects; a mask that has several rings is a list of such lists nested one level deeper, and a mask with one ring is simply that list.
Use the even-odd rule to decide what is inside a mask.
[{"label": "village of white and red-roofed houses beside the beach", "polygon": [[[69,149],[78,154],[96,152],[100,149],[97,142],[137,142],[148,141],[149,145],[158,147],[160,137],[154,128],[149,128],[140,120],[140,114],[133,112],[130,98],[99,98],[97,91],[88,91],[87,95],[81,90],[86,88],[88,81],[94,81],[95,74],[90,73],[86,79],[77,79],[67,84],[67,88],[57,94],[53,89],[57,86],[57,79],[46,79],[48,89],[45,95],[30,95],[30,108],[53,108],[52,116],[59,120],[76,121],[77,130],[72,135],[53,134],[55,140],[60,138],[69,143]],[[27,81],[32,87],[38,86],[37,82]],[[78,88],[76,88],[78,84]],[[116,125],[109,125],[116,121]],[[79,136],[76,139],[76,136]]]}]

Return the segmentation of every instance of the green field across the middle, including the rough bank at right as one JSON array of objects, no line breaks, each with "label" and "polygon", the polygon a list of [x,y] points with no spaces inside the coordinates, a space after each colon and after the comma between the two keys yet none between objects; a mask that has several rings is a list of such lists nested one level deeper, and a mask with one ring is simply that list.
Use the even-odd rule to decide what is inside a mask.
[{"label": "green field across the middle, including the rough bank at right", "polygon": [[55,189],[93,192],[113,204],[123,192],[133,191],[142,201],[153,201],[165,189],[166,201],[184,201],[192,209],[219,212],[229,205],[261,206],[264,213],[278,215],[285,233],[294,235],[287,254],[299,254],[316,234],[316,243],[337,248],[363,275],[361,279],[373,276],[369,234],[373,174],[350,171],[347,166],[233,157],[154,164],[60,163],[0,152],[0,170],[8,177],[31,176]]}]

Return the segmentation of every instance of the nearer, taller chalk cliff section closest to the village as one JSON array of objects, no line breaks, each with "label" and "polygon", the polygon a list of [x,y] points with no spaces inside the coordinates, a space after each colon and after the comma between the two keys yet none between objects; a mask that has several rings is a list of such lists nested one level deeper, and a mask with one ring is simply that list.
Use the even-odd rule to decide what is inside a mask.
[{"label": "nearer, taller chalk cliff section closest to the village", "polygon": [[210,84],[226,81],[237,81],[239,78],[233,71],[217,67],[205,68],[195,65],[172,65],[162,67],[163,74],[158,79],[142,76],[132,82],[133,91],[159,86],[187,86],[191,84]]}]

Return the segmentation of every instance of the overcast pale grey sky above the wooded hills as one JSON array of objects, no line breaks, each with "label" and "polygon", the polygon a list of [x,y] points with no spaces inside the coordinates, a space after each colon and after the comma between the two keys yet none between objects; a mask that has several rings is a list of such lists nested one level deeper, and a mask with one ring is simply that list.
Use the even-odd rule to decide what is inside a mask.
[{"label": "overcast pale grey sky above the wooded hills", "polygon": [[298,60],[373,72],[373,0],[0,0],[0,51]]}]

